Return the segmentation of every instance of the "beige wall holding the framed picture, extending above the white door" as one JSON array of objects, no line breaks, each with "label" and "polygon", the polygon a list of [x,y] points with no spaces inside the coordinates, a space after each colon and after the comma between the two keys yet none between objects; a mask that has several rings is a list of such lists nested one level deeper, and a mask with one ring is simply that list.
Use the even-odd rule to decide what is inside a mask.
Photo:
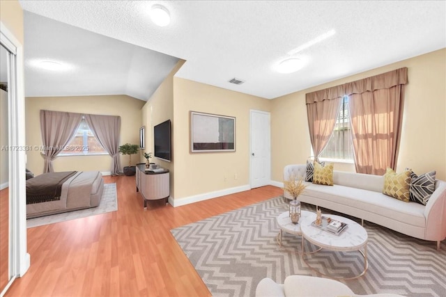
[{"label": "beige wall holding the framed picture, extending above the white door", "polygon": [[[175,199],[249,184],[249,110],[270,111],[270,103],[174,78]],[[236,152],[190,153],[190,111],[236,117]]]}]

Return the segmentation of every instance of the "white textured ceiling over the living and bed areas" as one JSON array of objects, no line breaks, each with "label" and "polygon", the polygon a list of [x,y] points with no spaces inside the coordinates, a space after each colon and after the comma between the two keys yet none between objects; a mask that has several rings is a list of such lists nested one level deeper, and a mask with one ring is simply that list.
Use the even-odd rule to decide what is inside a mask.
[{"label": "white textured ceiling over the living and bed areas", "polygon": [[[151,22],[155,3],[169,10],[168,26]],[[126,94],[147,100],[180,58],[186,63],[176,77],[272,99],[446,47],[446,1],[20,4],[26,96]],[[334,35],[315,42],[329,31]],[[305,65],[277,72],[277,63],[289,57]],[[31,66],[38,58],[73,67],[54,75]],[[244,83],[229,83],[233,78]]]}]

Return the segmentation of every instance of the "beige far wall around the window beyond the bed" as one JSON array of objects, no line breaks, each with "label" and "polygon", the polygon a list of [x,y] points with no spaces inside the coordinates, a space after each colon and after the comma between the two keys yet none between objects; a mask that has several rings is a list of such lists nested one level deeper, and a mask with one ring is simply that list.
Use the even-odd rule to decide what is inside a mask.
[{"label": "beige far wall around the window beyond the bed", "polygon": [[[126,95],[82,96],[82,97],[26,97],[26,145],[42,145],[40,133],[40,109],[50,111],[69,111],[121,116],[121,144],[139,145],[141,127],[141,108],[144,101]],[[43,158],[38,151],[26,153],[26,168],[35,175],[43,172]],[[128,166],[129,156],[121,155],[121,166]],[[132,155],[132,165],[137,163],[138,155]],[[109,172],[112,158],[102,156],[59,156],[54,160],[54,171],[99,170]]]}]

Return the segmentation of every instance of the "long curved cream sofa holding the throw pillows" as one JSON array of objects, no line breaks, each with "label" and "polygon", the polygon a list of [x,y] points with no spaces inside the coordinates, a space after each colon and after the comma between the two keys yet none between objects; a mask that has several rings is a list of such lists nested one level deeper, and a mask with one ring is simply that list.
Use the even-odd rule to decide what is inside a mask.
[{"label": "long curved cream sofa holding the throw pillows", "polygon": [[[305,164],[284,168],[284,180],[291,175],[305,179]],[[408,236],[427,241],[446,238],[446,182],[436,180],[435,191],[426,205],[403,202],[382,193],[384,176],[333,171],[333,186],[305,182],[307,188],[298,200],[318,207],[339,211],[362,220],[382,225]],[[292,199],[284,191],[286,198]]]}]

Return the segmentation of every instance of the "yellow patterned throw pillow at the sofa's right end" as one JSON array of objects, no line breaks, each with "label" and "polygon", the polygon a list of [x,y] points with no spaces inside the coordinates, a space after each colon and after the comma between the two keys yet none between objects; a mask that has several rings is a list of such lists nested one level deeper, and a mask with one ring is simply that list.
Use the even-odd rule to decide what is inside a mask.
[{"label": "yellow patterned throw pillow at the sofa's right end", "polygon": [[383,194],[409,202],[409,187],[410,170],[404,170],[397,174],[392,168],[387,168],[384,175]]}]

